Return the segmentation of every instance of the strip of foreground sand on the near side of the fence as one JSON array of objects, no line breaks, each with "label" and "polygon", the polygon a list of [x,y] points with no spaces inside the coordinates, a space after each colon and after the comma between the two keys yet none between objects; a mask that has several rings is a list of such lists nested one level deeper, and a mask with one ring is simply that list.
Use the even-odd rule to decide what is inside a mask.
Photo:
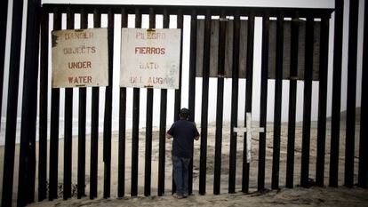
[{"label": "strip of foreground sand on the near side of the fence", "polygon": [[265,193],[251,193],[244,195],[192,195],[187,199],[175,199],[171,195],[164,196],[138,196],[125,197],[123,199],[95,199],[88,198],[77,200],[76,198],[62,201],[35,203],[29,206],[368,206],[368,193],[364,189],[346,187],[311,187],[267,191]]}]

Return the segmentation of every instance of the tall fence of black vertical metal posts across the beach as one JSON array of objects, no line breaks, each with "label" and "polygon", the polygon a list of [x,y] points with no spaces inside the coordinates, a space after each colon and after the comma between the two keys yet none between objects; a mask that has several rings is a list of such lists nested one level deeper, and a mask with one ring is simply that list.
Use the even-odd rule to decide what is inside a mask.
[{"label": "tall fence of black vertical metal posts across the beach", "polygon": [[[0,6],[3,16],[7,13],[8,1],[2,1]],[[4,4],[4,5],[3,5]],[[10,53],[10,74],[8,86],[8,100],[6,113],[6,132],[4,147],[4,178],[2,206],[12,205],[13,176],[14,176],[14,149],[16,136],[17,105],[20,74],[20,35],[22,30],[22,5],[23,0],[14,0],[12,8],[12,42]],[[356,68],[357,64],[357,28],[358,28],[358,1],[350,1],[349,28],[348,28],[348,99],[347,99],[347,123],[346,123],[346,146],[344,185],[354,186],[354,160],[355,160],[355,137],[356,137]],[[58,156],[59,156],[59,131],[64,131],[64,171],[63,171],[63,198],[68,199],[72,195],[72,122],[73,122],[73,92],[72,88],[52,88],[49,93],[49,23],[52,21],[52,30],[61,29],[62,23],[66,23],[68,29],[75,27],[75,16],[80,15],[80,28],[87,28],[88,15],[93,17],[93,27],[100,28],[101,15],[108,16],[108,83],[105,97],[100,97],[100,88],[92,87],[92,113],[91,131],[86,131],[86,88],[78,91],[78,153],[77,153],[77,197],[85,196],[85,139],[86,133],[91,133],[91,158],[90,158],[90,190],[91,199],[97,197],[98,187],[98,145],[99,145],[99,114],[102,109],[99,106],[100,99],[105,100],[104,125],[103,125],[103,197],[111,196],[111,120],[113,100],[119,101],[119,131],[118,131],[118,178],[117,196],[125,195],[125,185],[130,185],[131,195],[138,195],[138,153],[140,137],[140,110],[146,110],[145,130],[145,179],[144,195],[151,195],[151,157],[152,157],[152,117],[154,90],[147,89],[147,108],[140,108],[140,92],[142,89],[134,88],[132,95],[132,169],[131,183],[125,183],[125,141],[126,141],[126,88],[121,87],[118,97],[113,97],[112,81],[114,56],[114,27],[116,16],[121,17],[121,27],[128,26],[128,19],[134,15],[135,28],[141,28],[142,15],[149,15],[149,28],[156,28],[156,15],[163,16],[163,28],[169,28],[170,15],[177,17],[177,28],[183,29],[184,16],[190,16],[190,52],[188,73],[188,108],[191,113],[190,120],[195,120],[195,111],[201,110],[201,143],[200,143],[200,166],[199,166],[199,194],[206,193],[206,163],[207,163],[207,137],[208,137],[208,103],[209,103],[209,78],[217,78],[217,107],[216,107],[216,134],[214,156],[214,182],[213,194],[220,194],[221,175],[221,142],[223,127],[223,101],[224,101],[224,78],[231,77],[231,123],[229,143],[229,171],[228,193],[236,192],[236,131],[238,105],[244,104],[245,112],[252,112],[252,75],[254,56],[254,20],[262,19],[262,46],[261,46],[261,88],[260,88],[260,127],[267,126],[267,97],[268,79],[275,79],[275,106],[274,106],[274,138],[272,159],[272,189],[279,188],[279,162],[280,162],[280,133],[282,115],[282,83],[289,80],[289,116],[288,116],[288,140],[287,140],[287,165],[286,187],[294,187],[294,144],[295,144],[295,114],[297,81],[304,82],[303,93],[303,121],[302,121],[302,149],[301,149],[301,174],[300,186],[309,187],[309,153],[310,153],[310,124],[311,124],[311,100],[312,82],[319,82],[318,88],[318,126],[317,126],[317,149],[316,149],[316,185],[323,187],[325,171],[325,139],[326,139],[326,107],[327,107],[327,73],[329,52],[333,52],[333,79],[332,79],[332,127],[331,127],[331,155],[328,185],[338,187],[339,154],[340,152],[340,99],[341,99],[341,60],[342,60],[342,34],[343,34],[343,0],[336,0],[334,9],[315,8],[268,8],[268,7],[208,7],[208,6],[168,6],[168,5],[106,5],[106,4],[41,4],[39,0],[28,1],[27,31],[25,46],[24,81],[22,93],[21,132],[20,132],[20,170],[17,204],[24,206],[35,202],[35,184],[38,182],[38,201],[48,197],[52,200],[58,197]],[[334,35],[333,48],[329,48],[330,20],[334,12]],[[66,14],[66,22],[63,22],[62,14]],[[363,46],[363,74],[362,94],[368,89],[367,60],[368,60],[368,26],[367,4],[364,7],[364,46]],[[198,19],[204,16],[204,20]],[[217,17],[213,18],[213,17]],[[6,28],[6,15],[0,18],[0,28]],[[216,19],[216,20],[215,20]],[[217,23],[213,23],[217,21]],[[246,23],[244,23],[246,22]],[[216,24],[216,25],[215,25]],[[203,28],[200,27],[202,25]],[[214,25],[217,27],[213,36]],[[231,27],[230,27],[231,25]],[[242,28],[246,27],[246,28]],[[300,28],[304,28],[303,30]],[[198,29],[203,29],[203,33]],[[246,38],[242,36],[241,29],[246,31]],[[183,32],[181,30],[181,32]],[[303,33],[302,33],[303,32]],[[288,36],[285,36],[288,34]],[[1,31],[0,56],[2,68],[0,71],[1,88],[3,92],[4,76],[4,52],[5,52],[6,29]],[[202,35],[199,41],[198,36]],[[304,39],[300,38],[303,36]],[[231,39],[228,44],[228,38]],[[274,39],[272,39],[274,38]],[[287,39],[289,38],[289,39]],[[285,40],[286,39],[286,40]],[[216,44],[216,55],[212,57],[213,40]],[[288,42],[286,44],[285,42]],[[273,44],[272,44],[273,43]],[[303,45],[301,45],[301,43]],[[201,44],[201,45],[198,45]],[[247,46],[243,46],[246,44]],[[182,46],[182,43],[181,43]],[[123,45],[124,47],[124,45]],[[242,48],[244,47],[244,48]],[[201,48],[202,53],[197,52]],[[230,48],[230,49],[228,49]],[[287,49],[286,49],[287,48]],[[301,58],[304,64],[300,67]],[[316,49],[317,48],[317,49]],[[182,51],[182,50],[181,50]],[[229,52],[231,51],[231,55]],[[243,52],[240,52],[243,51]],[[286,52],[285,52],[286,51]],[[240,53],[245,54],[240,56]],[[270,57],[273,58],[270,58]],[[216,60],[216,65],[213,60]],[[244,63],[242,63],[244,59]],[[284,66],[287,59],[287,67]],[[180,63],[181,63],[180,59]],[[317,61],[317,64],[315,63]],[[202,68],[197,68],[200,62]],[[180,89],[175,90],[174,120],[179,119],[181,100],[181,65],[180,64]],[[243,65],[243,66],[242,66]],[[272,66],[271,66],[272,65]],[[239,68],[244,67],[244,76]],[[228,71],[226,72],[228,68]],[[215,69],[215,72],[211,72]],[[198,72],[200,70],[200,73]],[[287,71],[287,75],[285,74]],[[228,74],[230,73],[230,75]],[[300,74],[301,73],[301,74]],[[198,75],[199,74],[199,75]],[[202,77],[202,108],[195,108],[196,76]],[[246,78],[245,103],[239,103],[239,78]],[[60,100],[60,91],[65,91],[65,100]],[[146,90],[146,89],[144,89]],[[167,92],[162,89],[160,95],[160,123],[159,123],[159,166],[157,194],[164,195],[165,176],[165,131],[167,113]],[[2,94],[1,94],[2,95]],[[51,115],[48,115],[48,101],[51,100]],[[368,102],[362,95],[360,141],[359,141],[359,164],[358,186],[367,187],[368,176],[368,135],[367,118],[364,113]],[[60,102],[65,103],[64,129],[59,128]],[[1,105],[0,105],[1,106]],[[365,113],[366,114],[366,113]],[[36,160],[36,119],[39,119],[37,139],[39,140],[38,157]],[[50,126],[48,120],[50,119]],[[245,119],[245,117],[244,117]],[[50,133],[48,133],[48,131]],[[48,135],[49,134],[49,135]],[[49,137],[48,137],[49,136]],[[259,191],[265,189],[265,152],[266,133],[260,132],[259,155],[258,155],[258,184]],[[48,139],[50,146],[48,148]],[[246,149],[244,142],[244,156]],[[47,151],[49,150],[49,157]],[[38,169],[36,170],[36,162]],[[249,191],[249,163],[243,161],[242,192]],[[47,163],[49,169],[47,169]],[[190,171],[193,171],[193,161]],[[36,172],[38,176],[36,179]],[[48,174],[47,174],[48,173]],[[193,190],[193,173],[189,173],[189,191]],[[48,184],[48,186],[47,186]],[[175,191],[173,185],[172,192]]]}]

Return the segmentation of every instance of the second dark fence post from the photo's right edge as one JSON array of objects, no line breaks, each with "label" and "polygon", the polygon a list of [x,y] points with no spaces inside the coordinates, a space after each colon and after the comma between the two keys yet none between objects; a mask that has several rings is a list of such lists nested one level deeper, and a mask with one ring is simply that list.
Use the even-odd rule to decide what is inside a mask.
[{"label": "second dark fence post from the photo's right edge", "polygon": [[354,186],[354,147],[356,139],[356,56],[357,30],[359,20],[359,1],[350,1],[348,18],[348,96],[347,96],[347,130],[345,147],[344,186]]}]

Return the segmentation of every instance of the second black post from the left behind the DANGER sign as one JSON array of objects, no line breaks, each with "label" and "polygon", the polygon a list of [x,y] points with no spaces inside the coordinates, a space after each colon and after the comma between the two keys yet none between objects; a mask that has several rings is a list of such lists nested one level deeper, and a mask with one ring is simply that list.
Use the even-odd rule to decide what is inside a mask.
[{"label": "second black post from the left behind the DANGER sign", "polygon": [[[67,9],[67,29],[74,28],[74,13]],[[72,124],[73,124],[73,88],[65,89],[65,126],[64,126],[64,185],[63,199],[71,197],[72,165]]]}]

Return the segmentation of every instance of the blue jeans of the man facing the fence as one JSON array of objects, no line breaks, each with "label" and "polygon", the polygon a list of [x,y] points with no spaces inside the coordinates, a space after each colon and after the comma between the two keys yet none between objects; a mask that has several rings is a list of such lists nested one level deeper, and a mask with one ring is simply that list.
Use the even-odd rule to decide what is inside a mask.
[{"label": "blue jeans of the man facing the fence", "polygon": [[190,158],[172,156],[173,174],[178,195],[188,195],[188,167]]}]

